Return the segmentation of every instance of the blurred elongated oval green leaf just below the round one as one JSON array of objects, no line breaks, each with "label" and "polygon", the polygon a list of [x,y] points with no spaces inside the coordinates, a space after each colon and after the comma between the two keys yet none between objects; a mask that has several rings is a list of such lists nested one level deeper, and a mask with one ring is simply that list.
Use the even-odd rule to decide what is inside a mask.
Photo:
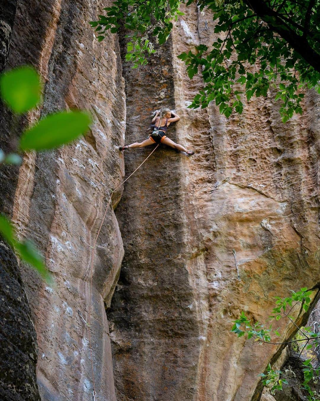
[{"label": "blurred elongated oval green leaf just below the round one", "polygon": [[91,118],[82,111],[62,111],[48,115],[28,129],[20,139],[22,150],[52,149],[88,131]]}]

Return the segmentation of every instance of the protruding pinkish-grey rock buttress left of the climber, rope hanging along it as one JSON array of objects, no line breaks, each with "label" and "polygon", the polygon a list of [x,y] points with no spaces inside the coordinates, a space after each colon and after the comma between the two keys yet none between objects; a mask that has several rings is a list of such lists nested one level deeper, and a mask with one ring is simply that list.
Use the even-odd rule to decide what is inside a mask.
[{"label": "protruding pinkish-grey rock buttress left of the climber, rope hanging along it", "polygon": [[[37,379],[44,400],[87,400],[93,391],[88,326],[78,311],[88,320],[90,245],[109,188],[118,186],[124,173],[116,147],[124,141],[125,128],[118,39],[110,36],[100,45],[88,24],[105,6],[105,1],[19,2],[12,33],[8,66],[31,63],[45,82],[44,104],[28,115],[29,122],[74,107],[87,109],[94,119],[85,138],[56,152],[25,155],[15,181],[8,183],[2,176],[11,194],[3,204],[11,204],[19,235],[33,239],[45,255],[55,282],[50,288],[32,269],[20,266],[37,333]],[[120,193],[114,194],[113,207]],[[96,244],[90,322],[95,390],[101,400],[115,400],[105,305],[110,304],[122,257],[120,231],[110,208]],[[28,320],[27,313],[24,319]],[[31,341],[29,348],[35,346]],[[30,369],[34,368],[34,351],[24,348],[33,359]],[[35,385],[34,394],[23,399],[39,399],[37,391]],[[7,399],[20,400],[13,391]]]}]

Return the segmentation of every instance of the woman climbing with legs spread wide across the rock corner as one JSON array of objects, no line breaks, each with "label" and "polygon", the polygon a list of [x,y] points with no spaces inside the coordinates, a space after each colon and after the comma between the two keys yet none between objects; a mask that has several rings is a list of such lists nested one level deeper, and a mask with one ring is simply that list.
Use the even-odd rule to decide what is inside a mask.
[{"label": "woman climbing with legs spread wide across the rock corner", "polygon": [[[171,117],[173,115],[173,117]],[[182,152],[186,152],[188,155],[194,154],[192,150],[186,150],[184,146],[176,144],[171,139],[166,136],[166,131],[168,126],[175,122],[179,121],[180,117],[178,114],[174,113],[170,109],[161,109],[156,112],[156,115],[152,119],[153,132],[142,142],[134,142],[133,144],[127,146],[120,146],[120,150],[125,150],[128,148],[144,148],[144,146],[149,146],[152,144],[165,144],[171,146],[171,148],[181,150]]]}]

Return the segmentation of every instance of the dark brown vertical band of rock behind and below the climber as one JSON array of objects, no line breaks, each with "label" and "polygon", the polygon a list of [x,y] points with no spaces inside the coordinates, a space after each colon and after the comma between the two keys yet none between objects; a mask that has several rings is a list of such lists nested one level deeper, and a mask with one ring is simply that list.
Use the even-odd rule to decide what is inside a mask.
[{"label": "dark brown vertical band of rock behind and below the climber", "polygon": [[[168,41],[146,67],[132,70],[124,63],[126,144],[147,137],[153,110],[174,108],[171,58]],[[168,136],[177,140],[174,124]],[[152,148],[124,152],[127,174]],[[118,401],[195,396],[200,339],[184,257],[186,157],[160,146],[124,184],[116,210],[125,256],[108,320]]]}]

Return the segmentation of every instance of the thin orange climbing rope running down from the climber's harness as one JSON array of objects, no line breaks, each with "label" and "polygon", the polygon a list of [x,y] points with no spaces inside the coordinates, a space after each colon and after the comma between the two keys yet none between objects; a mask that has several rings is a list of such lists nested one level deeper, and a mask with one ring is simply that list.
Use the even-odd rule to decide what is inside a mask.
[{"label": "thin orange climbing rope running down from the climber's harness", "polygon": [[93,384],[92,397],[93,397],[93,401],[96,401],[96,394],[97,394],[97,393],[96,393],[96,389],[95,389],[95,385],[94,385],[94,373],[93,373],[93,361],[92,361],[92,348],[91,348],[91,334],[90,334],[91,294],[92,294],[92,277],[93,277],[94,249],[95,249],[96,242],[97,242],[97,239],[98,239],[99,234],[100,234],[100,230],[101,230],[102,224],[103,224],[103,222],[104,222],[104,219],[105,219],[105,217],[106,217],[107,211],[108,211],[109,206],[110,206],[110,204],[111,204],[112,195],[114,194],[114,192],[116,192],[116,190],[117,190],[118,188],[120,188],[120,186],[121,186],[122,184],[124,184],[124,183],[125,183],[125,182],[141,167],[141,166],[142,166],[142,164],[144,164],[144,162],[145,162],[146,160],[148,160],[148,158],[152,155],[152,153],[156,150],[156,148],[158,148],[158,146],[159,146],[159,144],[158,144],[158,145],[154,148],[154,150],[152,150],[152,152],[144,159],[144,161],[140,164],[140,166],[138,166],[138,167],[136,168],[136,170],[134,170],[134,172],[131,173],[130,176],[128,176],[128,178],[126,178],[124,181],[122,181],[121,184],[119,184],[114,190],[111,191],[110,198],[109,198],[109,201],[108,201],[108,205],[107,205],[107,207],[106,207],[106,211],[104,212],[104,216],[103,216],[103,218],[102,218],[102,222],[101,222],[101,224],[100,224],[100,227],[99,227],[99,230],[98,230],[98,234],[97,234],[97,236],[96,236],[96,239],[94,240],[93,246],[91,246],[91,245],[89,245],[88,243],[86,243],[86,241],[84,241],[84,238],[83,238],[83,237],[80,237],[81,241],[83,241],[84,243],[86,243],[87,245],[89,245],[90,248],[92,248],[92,254],[91,254],[91,281],[90,281],[90,298],[89,298],[89,317],[88,317],[88,323],[87,323],[87,322],[84,320],[84,318],[82,317],[81,312],[78,311],[78,313],[79,313],[79,315],[80,315],[80,318],[82,318],[82,320],[86,323],[86,325],[88,326],[88,329],[89,329],[89,348],[90,348],[90,360],[91,360],[91,370],[92,370],[92,384]]}]

